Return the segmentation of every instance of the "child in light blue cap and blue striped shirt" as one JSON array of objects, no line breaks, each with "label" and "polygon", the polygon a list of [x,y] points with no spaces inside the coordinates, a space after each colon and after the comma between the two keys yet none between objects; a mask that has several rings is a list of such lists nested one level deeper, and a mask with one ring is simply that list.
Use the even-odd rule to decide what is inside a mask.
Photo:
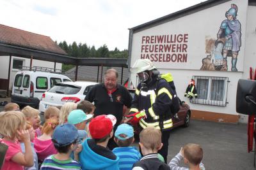
[{"label": "child in light blue cap and blue striped shirt", "polygon": [[132,169],[132,165],[141,159],[141,154],[134,146],[134,130],[131,125],[118,125],[115,131],[116,144],[119,146],[113,149],[113,153],[119,157],[119,168],[121,170]]}]

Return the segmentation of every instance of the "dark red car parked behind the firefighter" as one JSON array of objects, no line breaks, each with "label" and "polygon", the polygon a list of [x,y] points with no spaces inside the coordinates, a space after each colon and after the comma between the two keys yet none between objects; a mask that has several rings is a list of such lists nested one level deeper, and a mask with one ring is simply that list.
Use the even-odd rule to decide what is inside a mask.
[{"label": "dark red car parked behind the firefighter", "polygon": [[[135,89],[128,89],[128,90],[133,98],[135,94]],[[126,110],[127,108],[124,108],[124,113]],[[174,116],[172,118],[172,122],[173,122],[172,128],[179,127],[179,126],[188,127],[190,122],[190,117],[191,117],[191,111],[188,104],[186,104],[184,101],[180,101],[180,110],[177,113],[177,116]],[[134,131],[136,134],[140,133],[139,129],[140,128],[138,128],[138,125],[134,125]]]}]

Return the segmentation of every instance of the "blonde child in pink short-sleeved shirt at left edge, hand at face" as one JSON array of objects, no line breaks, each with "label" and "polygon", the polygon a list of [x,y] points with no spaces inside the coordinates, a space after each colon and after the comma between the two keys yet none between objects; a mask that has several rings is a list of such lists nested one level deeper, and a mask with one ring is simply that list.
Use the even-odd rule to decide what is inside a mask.
[{"label": "blonde child in pink short-sleeved shirt at left edge, hand at face", "polygon": [[[2,169],[22,170],[23,166],[33,166],[33,152],[28,130],[25,130],[26,119],[20,111],[7,111],[0,114],[0,134],[8,150]],[[25,153],[22,153],[20,143],[24,142]]]}]

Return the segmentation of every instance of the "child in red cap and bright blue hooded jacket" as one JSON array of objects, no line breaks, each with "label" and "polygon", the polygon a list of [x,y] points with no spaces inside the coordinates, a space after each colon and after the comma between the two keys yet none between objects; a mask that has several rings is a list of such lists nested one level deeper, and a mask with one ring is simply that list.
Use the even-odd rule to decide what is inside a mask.
[{"label": "child in red cap and bright blue hooded jacket", "polygon": [[89,133],[92,139],[84,141],[83,150],[79,154],[82,169],[119,169],[119,158],[107,148],[114,125],[115,121],[106,115],[99,115],[90,122]]}]

